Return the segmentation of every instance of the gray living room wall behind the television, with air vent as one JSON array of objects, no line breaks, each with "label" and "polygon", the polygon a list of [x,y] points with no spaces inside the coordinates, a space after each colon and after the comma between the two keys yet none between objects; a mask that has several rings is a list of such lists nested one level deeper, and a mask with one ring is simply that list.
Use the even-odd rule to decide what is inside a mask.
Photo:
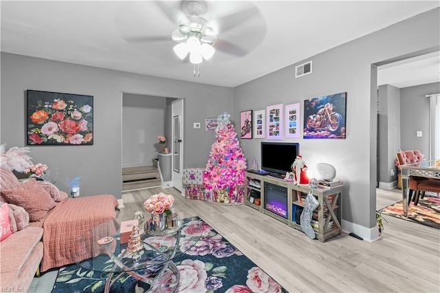
[{"label": "gray living room wall behind the television, with air vent", "polygon": [[[432,10],[234,88],[235,116],[250,107],[259,110],[277,103],[303,105],[309,98],[347,91],[345,140],[286,140],[300,142],[308,166],[328,162],[336,167],[337,177],[345,182],[342,218],[346,224],[353,224],[345,228],[374,233],[377,78],[372,64],[427,48],[438,50],[438,24],[439,9]],[[294,78],[294,66],[310,60],[313,73]],[[260,141],[242,140],[248,161],[254,156],[260,158]]]}]

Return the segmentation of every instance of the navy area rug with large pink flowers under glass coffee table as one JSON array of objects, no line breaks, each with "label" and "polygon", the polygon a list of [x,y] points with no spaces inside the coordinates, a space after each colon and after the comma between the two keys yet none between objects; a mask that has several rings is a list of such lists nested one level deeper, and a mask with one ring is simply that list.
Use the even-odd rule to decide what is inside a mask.
[{"label": "navy area rug with large pink flowers under glass coffee table", "polygon": [[[200,235],[202,231],[205,232],[204,236],[194,244],[194,235]],[[148,237],[145,241],[156,247],[163,246],[161,249],[164,250],[168,245],[166,237]],[[125,247],[126,245],[121,245],[122,249]],[[185,252],[174,260],[180,272],[176,292],[287,292],[199,217],[184,219],[179,250]],[[108,257],[103,259],[107,260]],[[110,261],[107,263],[109,268],[113,264]],[[151,267],[140,274],[151,276],[158,270]],[[163,277],[166,278],[166,273]],[[59,270],[52,293],[104,292],[106,278],[107,273],[86,270],[76,264],[67,265]],[[111,287],[110,292],[148,290],[148,284],[137,281],[131,276],[122,276]]]}]

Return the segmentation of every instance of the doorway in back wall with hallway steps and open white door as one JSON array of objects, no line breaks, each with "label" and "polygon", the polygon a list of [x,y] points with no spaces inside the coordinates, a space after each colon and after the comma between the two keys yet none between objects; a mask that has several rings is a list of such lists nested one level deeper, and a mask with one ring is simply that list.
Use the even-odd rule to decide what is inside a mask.
[{"label": "doorway in back wall with hallway steps and open white door", "polygon": [[[173,140],[174,102],[176,102],[176,105],[181,104],[181,107],[178,107],[180,111],[177,113],[177,116],[179,116],[180,120],[178,127],[179,140],[183,140],[184,113],[182,99],[122,93],[122,173],[124,173],[125,169],[135,169],[136,173],[139,173],[134,179],[128,178],[131,184],[136,183],[133,188],[129,188],[130,190],[161,186],[160,175],[157,170],[157,157],[161,144],[159,144],[157,137],[158,135],[166,137],[166,147],[170,151],[170,156],[174,156],[176,150]],[[181,188],[179,187],[181,186],[181,183],[179,184],[181,176],[179,181],[179,175],[182,174],[181,169],[184,166],[184,158],[181,155],[183,154],[183,143],[177,143],[179,144],[179,150],[176,152],[175,157],[179,160],[175,166],[178,170],[175,184],[177,189],[179,189]],[[170,164],[168,168],[169,180],[172,180],[173,174],[171,169],[173,167]],[[153,170],[145,171],[149,169],[154,169],[155,173],[153,174]],[[129,171],[131,172],[131,170]],[[144,178],[145,176],[148,178]],[[122,177],[122,186],[124,186],[126,184],[124,180],[126,181],[127,179],[124,179],[124,176]],[[148,182],[146,182],[147,179]],[[173,186],[173,181],[169,183],[169,186]]]}]

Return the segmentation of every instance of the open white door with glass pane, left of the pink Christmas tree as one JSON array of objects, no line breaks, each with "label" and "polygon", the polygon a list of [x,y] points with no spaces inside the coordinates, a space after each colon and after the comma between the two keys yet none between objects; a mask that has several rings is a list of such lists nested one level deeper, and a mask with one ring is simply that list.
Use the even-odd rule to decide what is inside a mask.
[{"label": "open white door with glass pane, left of the pink Christmas tree", "polygon": [[181,182],[184,170],[184,99],[175,100],[172,104],[173,115],[173,146],[171,153],[173,154],[173,186],[182,194],[185,193],[184,186]]}]

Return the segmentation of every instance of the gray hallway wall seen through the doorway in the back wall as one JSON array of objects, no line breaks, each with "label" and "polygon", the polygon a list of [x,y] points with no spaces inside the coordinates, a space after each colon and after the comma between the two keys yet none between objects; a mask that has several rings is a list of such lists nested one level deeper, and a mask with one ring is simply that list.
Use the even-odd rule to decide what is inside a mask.
[{"label": "gray hallway wall seen through the doorway in the back wall", "polygon": [[160,149],[157,136],[165,135],[165,121],[166,98],[122,94],[122,167],[153,164]]}]

